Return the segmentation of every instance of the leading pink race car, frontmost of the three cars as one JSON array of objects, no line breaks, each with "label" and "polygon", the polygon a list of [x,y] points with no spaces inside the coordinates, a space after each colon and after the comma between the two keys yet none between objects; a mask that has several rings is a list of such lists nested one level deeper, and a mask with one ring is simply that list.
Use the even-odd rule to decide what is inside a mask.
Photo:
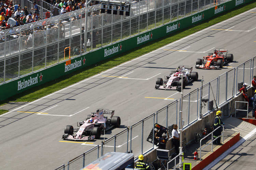
[{"label": "leading pink race car, frontmost of the three cars", "polygon": [[[67,125],[64,130],[62,138],[64,140],[75,141],[88,141],[99,139],[101,131],[110,130],[113,127],[119,127],[121,119],[118,116],[113,116],[115,111],[98,109],[97,113],[87,115],[85,121],[77,122],[77,126],[80,128],[74,129],[73,126]],[[105,115],[110,115],[110,119]],[[73,133],[76,132],[75,135]]]}]

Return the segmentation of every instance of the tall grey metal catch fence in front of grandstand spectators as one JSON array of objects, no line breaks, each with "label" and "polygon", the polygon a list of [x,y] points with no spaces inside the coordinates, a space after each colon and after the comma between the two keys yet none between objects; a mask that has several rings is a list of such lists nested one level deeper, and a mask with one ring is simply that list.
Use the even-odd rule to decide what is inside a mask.
[{"label": "tall grey metal catch fence in front of grandstand spectators", "polygon": [[126,2],[131,5],[130,16],[119,11],[117,15],[100,13],[101,4],[97,4],[1,30],[0,85],[63,62],[66,47],[71,49],[71,58],[84,55],[214,5],[213,0]]}]

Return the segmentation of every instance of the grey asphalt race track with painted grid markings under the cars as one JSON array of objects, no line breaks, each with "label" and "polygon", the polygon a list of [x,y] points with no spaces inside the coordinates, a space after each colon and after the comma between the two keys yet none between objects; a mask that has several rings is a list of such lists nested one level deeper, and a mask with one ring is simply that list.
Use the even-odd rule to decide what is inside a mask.
[{"label": "grey asphalt race track with painted grid markings under the cars", "polygon": [[[255,20],[256,8],[0,116],[1,169],[55,169],[67,164],[100,144],[103,136],[92,145],[62,142],[66,125],[76,127],[97,108],[114,109],[121,127],[105,138],[117,134],[172,102],[165,98],[180,98],[177,91],[154,89],[156,78],[179,65],[195,67],[196,59],[214,48],[228,49],[234,62],[219,70],[196,69],[205,82],[251,59],[256,56]],[[194,82],[184,94],[200,86],[200,81]]]}]

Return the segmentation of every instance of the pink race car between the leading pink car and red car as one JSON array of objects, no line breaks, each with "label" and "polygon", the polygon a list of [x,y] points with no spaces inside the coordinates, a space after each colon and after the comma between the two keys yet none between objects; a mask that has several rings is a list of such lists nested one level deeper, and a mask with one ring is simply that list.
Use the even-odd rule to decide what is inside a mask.
[{"label": "pink race car between the leading pink car and red car", "polygon": [[165,76],[165,80],[162,78],[156,79],[156,89],[165,90],[180,90],[181,89],[181,74],[183,73],[183,88],[192,82],[198,80],[198,73],[192,72],[193,67],[179,66],[175,71],[171,71],[169,75]]}]

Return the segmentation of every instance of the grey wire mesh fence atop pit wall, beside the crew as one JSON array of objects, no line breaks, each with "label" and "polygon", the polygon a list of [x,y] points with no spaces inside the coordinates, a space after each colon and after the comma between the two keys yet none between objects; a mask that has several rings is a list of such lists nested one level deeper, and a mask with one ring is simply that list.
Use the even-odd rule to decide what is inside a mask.
[{"label": "grey wire mesh fence atop pit wall, beside the crew", "polygon": [[[217,107],[221,108],[233,97],[239,95],[238,83],[251,84],[253,75],[256,75],[255,59],[256,57],[236,68],[232,68],[228,72],[219,75],[216,79],[209,83],[202,84],[200,88],[185,95],[183,97],[183,131],[199,118],[208,115]],[[85,160],[86,163],[89,164],[107,152],[132,152],[135,157],[138,157],[140,154],[146,154],[152,151],[154,149],[154,134],[151,132],[154,130],[155,123],[167,128],[170,128],[172,124],[178,124],[178,126],[181,127],[179,123],[180,104],[180,100],[172,101],[167,106],[156,111],[156,113],[145,117],[141,121],[102,142],[101,146],[86,151],[84,154],[70,161],[66,166],[62,165],[58,169],[64,169],[66,167],[68,170],[79,170],[75,167],[81,168]],[[169,134],[171,136],[170,131]],[[188,142],[189,141],[184,141],[184,143]],[[92,157],[91,155],[87,156],[88,153],[97,155],[97,157]],[[71,168],[71,164],[79,165],[72,165],[74,168]]]}]

